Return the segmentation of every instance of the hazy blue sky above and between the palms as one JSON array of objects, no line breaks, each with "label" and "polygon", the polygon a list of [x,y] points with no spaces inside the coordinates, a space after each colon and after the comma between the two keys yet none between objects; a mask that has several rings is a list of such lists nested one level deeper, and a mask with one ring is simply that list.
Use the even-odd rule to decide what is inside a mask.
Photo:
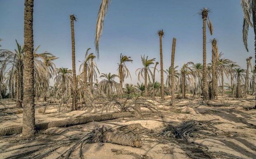
[{"label": "hazy blue sky above and between the palms", "polygon": [[[94,38],[97,12],[101,0],[35,0],[34,46],[39,53],[48,51],[57,57],[56,67],[71,69],[71,29],[69,14],[78,18],[74,24],[76,41],[76,69],[81,64],[87,48],[95,53]],[[197,13],[203,7],[211,9],[213,35],[207,28],[207,42],[218,39],[223,58],[246,68],[246,58],[254,57],[254,33],[249,31],[249,53],[242,42],[243,14],[240,0],[112,0],[104,21],[100,41],[100,59],[96,60],[100,73],[118,74],[120,53],[131,56],[128,63],[132,81],[137,83],[135,70],[142,67],[140,55],[156,58],[160,62],[159,36],[163,29],[164,69],[171,65],[171,45],[175,37],[175,66],[189,61],[202,63],[202,25]],[[0,38],[2,49],[14,51],[15,39],[24,43],[24,0],[0,1]],[[211,62],[211,44],[207,44],[207,63]],[[254,58],[252,59],[254,65]],[[158,66],[160,69],[160,65]],[[160,81],[160,74],[156,75]],[[165,76],[166,77],[166,76]],[[118,81],[116,79],[116,81]],[[143,82],[143,81],[142,81]],[[228,82],[228,81],[226,81]],[[144,82],[143,82],[144,83]]]}]

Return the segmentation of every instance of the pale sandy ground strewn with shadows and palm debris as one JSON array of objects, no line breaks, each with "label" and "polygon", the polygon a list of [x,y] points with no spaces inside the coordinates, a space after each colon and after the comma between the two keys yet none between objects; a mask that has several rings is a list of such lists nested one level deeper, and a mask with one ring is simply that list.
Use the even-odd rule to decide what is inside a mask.
[{"label": "pale sandy ground strewn with shadows and palm debris", "polygon": [[[142,108],[143,118],[119,118],[102,122],[90,122],[87,124],[74,125],[71,127],[57,128],[53,127],[37,134],[36,140],[24,143],[19,135],[0,138],[0,158],[12,157],[15,154],[23,153],[31,149],[40,149],[38,143],[47,143],[47,140],[62,140],[65,136],[57,135],[61,133],[69,136],[90,132],[95,129],[95,125],[104,125],[108,128],[118,128],[123,125],[129,125],[129,130],[141,137],[142,147],[130,147],[116,145],[111,143],[85,144],[82,147],[82,153],[86,159],[205,159],[205,158],[242,158],[256,159],[256,110],[247,110],[255,105],[253,97],[247,96],[243,99],[232,97],[219,97],[217,102],[228,104],[228,106],[206,106],[201,99],[177,99],[177,106],[169,105],[170,97],[166,97],[165,102],[160,99],[154,101],[154,107],[159,110],[164,118],[159,117],[157,113],[152,113],[146,108]],[[15,108],[14,101],[1,100],[2,104],[8,106],[6,109],[0,105],[0,128],[22,125],[22,109]],[[152,101],[153,102],[153,101]],[[45,104],[47,102],[38,102],[36,105],[36,123],[46,121],[63,120],[65,118],[76,118],[78,116],[92,115],[91,109],[84,111],[61,112],[58,113],[58,104],[47,106],[45,114]],[[100,110],[100,108],[98,108]],[[89,113],[90,112],[90,113]],[[15,115],[14,115],[15,113]],[[97,112],[94,114],[100,114]],[[206,121],[219,119],[214,124],[218,131],[213,132],[211,136],[194,136],[186,142],[183,138],[163,138],[156,136],[168,126],[177,125],[183,121],[197,120]],[[135,129],[134,129],[135,128]],[[127,132],[128,129],[119,129]],[[55,134],[54,134],[55,133]],[[152,135],[153,134],[153,135]],[[202,144],[209,148],[195,145],[191,142]],[[17,150],[12,150],[19,148]],[[62,147],[56,152],[46,157],[48,159],[57,158],[61,152],[70,147]],[[112,152],[111,149],[116,149]],[[8,151],[12,150],[12,151]],[[35,152],[43,153],[43,152]],[[75,150],[70,158],[79,158],[79,150]]]}]

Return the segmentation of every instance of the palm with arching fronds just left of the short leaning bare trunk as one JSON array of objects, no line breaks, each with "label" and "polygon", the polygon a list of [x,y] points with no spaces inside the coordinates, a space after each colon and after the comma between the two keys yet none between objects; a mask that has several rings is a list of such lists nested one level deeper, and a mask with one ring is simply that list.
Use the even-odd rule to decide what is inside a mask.
[{"label": "palm with arching fronds just left of the short leaning bare trunk", "polygon": [[[147,58],[148,58],[148,56],[147,56]],[[147,58],[145,59],[145,55],[142,58],[142,55],[141,55],[141,61],[142,61],[143,67],[136,69],[136,71],[135,71],[136,75],[137,75],[137,71],[139,71],[138,81],[140,81],[140,76],[142,76],[142,78],[145,79],[145,96],[147,96],[147,78],[149,78],[149,81],[150,81],[149,73],[152,74],[152,72],[150,70],[150,68],[152,68],[152,67],[149,67],[149,66],[154,64],[154,61],[156,59],[156,58],[152,58],[152,59],[148,60]],[[144,76],[143,76],[143,73],[144,73]]]}]

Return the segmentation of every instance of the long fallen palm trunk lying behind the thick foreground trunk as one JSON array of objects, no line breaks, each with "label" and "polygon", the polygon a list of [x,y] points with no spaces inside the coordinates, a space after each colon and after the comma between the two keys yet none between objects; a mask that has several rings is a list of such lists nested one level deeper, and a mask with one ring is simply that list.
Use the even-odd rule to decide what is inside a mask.
[{"label": "long fallen palm trunk lying behind the thick foreground trunk", "polygon": [[[112,120],[112,119],[125,118],[125,117],[131,117],[131,116],[133,115],[130,112],[123,112],[123,113],[93,115],[93,116],[82,117],[82,118],[70,118],[70,119],[64,119],[64,120],[59,120],[54,122],[36,124],[36,130],[45,130],[51,127],[67,127],[71,125],[85,124],[93,121],[100,122],[104,120]],[[22,132],[22,126],[5,127],[0,129],[0,136],[20,134],[21,132]]]}]

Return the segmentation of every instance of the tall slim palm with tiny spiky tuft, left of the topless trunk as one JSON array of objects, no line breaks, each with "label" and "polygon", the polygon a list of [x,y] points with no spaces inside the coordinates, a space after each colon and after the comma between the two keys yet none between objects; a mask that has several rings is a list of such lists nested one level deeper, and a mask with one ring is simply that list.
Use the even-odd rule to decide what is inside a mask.
[{"label": "tall slim palm with tiny spiky tuft, left of the topless trunk", "polygon": [[164,30],[158,30],[160,41],[160,72],[161,72],[161,100],[164,100],[164,68],[163,68],[163,50],[162,50],[162,37],[164,37]]}]

